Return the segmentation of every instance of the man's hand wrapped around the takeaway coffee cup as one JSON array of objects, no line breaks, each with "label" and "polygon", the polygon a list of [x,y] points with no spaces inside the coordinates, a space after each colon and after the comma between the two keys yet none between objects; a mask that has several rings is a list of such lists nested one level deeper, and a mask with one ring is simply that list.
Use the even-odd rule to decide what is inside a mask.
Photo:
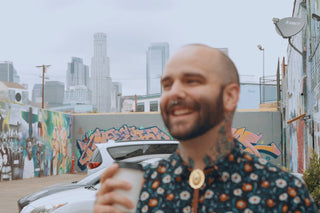
[{"label": "man's hand wrapped around the takeaway coffee cup", "polygon": [[96,194],[94,213],[122,212],[114,204],[122,205],[128,209],[134,208],[130,199],[114,191],[116,189],[130,190],[132,188],[131,183],[113,178],[118,169],[119,165],[113,164],[102,173],[100,177],[101,187]]}]

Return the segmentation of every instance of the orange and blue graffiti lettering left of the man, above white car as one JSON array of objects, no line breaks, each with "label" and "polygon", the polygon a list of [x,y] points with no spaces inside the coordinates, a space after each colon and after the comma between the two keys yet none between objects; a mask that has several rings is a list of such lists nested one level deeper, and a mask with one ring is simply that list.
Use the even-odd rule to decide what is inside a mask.
[{"label": "orange and blue graffiti lettering left of the man, above white car", "polygon": [[108,140],[129,141],[129,140],[173,140],[173,138],[160,130],[158,127],[136,127],[123,125],[120,128],[103,130],[96,128],[94,131],[86,133],[82,140],[77,140],[78,166],[84,170],[86,163],[90,160],[95,144],[107,143]]}]

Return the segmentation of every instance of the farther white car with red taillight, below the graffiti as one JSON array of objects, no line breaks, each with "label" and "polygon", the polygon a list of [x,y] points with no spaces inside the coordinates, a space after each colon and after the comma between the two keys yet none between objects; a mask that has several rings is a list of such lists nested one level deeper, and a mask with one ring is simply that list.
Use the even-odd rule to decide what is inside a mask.
[{"label": "farther white car with red taillight, below the graffiti", "polygon": [[96,144],[88,163],[88,174],[109,167],[115,161],[141,162],[148,159],[163,159],[172,154],[178,141],[113,141]]}]

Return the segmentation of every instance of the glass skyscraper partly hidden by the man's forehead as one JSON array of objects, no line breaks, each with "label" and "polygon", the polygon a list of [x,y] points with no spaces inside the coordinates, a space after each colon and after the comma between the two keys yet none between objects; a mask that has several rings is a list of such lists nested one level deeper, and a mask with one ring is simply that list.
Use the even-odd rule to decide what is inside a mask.
[{"label": "glass skyscraper partly hidden by the man's forehead", "polygon": [[147,51],[147,95],[161,93],[160,79],[168,58],[168,43],[151,43]]}]

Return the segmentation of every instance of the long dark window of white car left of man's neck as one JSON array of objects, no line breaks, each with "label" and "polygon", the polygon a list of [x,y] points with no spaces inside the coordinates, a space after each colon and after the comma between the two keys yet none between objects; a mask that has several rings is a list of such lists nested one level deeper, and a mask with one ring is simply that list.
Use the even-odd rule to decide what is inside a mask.
[{"label": "long dark window of white car left of man's neck", "polygon": [[109,147],[107,151],[114,160],[118,161],[141,155],[171,154],[177,146],[177,144],[137,144]]}]

